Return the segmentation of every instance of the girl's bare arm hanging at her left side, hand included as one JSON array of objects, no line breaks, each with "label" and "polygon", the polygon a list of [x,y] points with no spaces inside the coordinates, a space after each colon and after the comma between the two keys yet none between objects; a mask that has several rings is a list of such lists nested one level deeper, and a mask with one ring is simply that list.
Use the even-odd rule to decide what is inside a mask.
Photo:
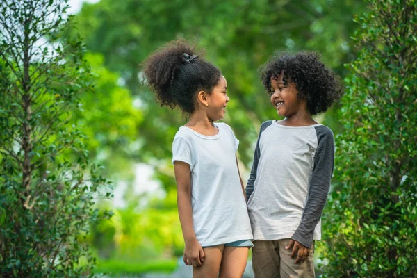
[{"label": "girl's bare arm hanging at her left side, hand included", "polygon": [[177,181],[177,203],[179,221],[183,231],[183,260],[186,265],[200,266],[204,261],[204,251],[199,244],[193,227],[193,211],[191,208],[191,171],[190,165],[182,161],[174,162],[175,179]]}]

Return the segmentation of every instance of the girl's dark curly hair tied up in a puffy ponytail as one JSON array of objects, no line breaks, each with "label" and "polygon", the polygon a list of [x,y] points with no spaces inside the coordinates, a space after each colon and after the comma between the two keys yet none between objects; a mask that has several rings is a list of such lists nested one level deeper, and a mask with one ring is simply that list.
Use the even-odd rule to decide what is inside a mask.
[{"label": "girl's dark curly hair tied up in a puffy ponytail", "polygon": [[143,63],[145,82],[156,94],[161,106],[179,107],[185,113],[196,109],[196,95],[200,90],[210,93],[217,85],[220,70],[199,57],[185,40],[175,40],[149,55]]}]

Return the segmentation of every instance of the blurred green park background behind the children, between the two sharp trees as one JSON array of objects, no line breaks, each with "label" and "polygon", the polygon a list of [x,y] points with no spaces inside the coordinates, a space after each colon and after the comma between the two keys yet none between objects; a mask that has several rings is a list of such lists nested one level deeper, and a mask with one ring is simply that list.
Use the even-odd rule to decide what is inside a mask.
[{"label": "blurred green park background behind the children, between the two sharp trees", "polygon": [[[85,58],[97,74],[96,92],[85,94],[77,117],[88,136],[90,158],[105,165],[113,199],[97,204],[113,218],[97,222],[88,241],[96,272],[113,275],[172,272],[183,252],[177,215],[171,144],[186,122],[161,108],[143,86],[140,63],[165,42],[186,38],[206,49],[220,67],[231,101],[224,119],[240,140],[246,181],[259,126],[276,118],[256,69],[277,50],[318,51],[340,76],[356,57],[352,20],[366,11],[360,0],[101,0],[69,2],[76,14]],[[334,110],[316,120],[343,130]],[[324,227],[325,228],[325,227]],[[318,253],[320,253],[318,246]]]}]

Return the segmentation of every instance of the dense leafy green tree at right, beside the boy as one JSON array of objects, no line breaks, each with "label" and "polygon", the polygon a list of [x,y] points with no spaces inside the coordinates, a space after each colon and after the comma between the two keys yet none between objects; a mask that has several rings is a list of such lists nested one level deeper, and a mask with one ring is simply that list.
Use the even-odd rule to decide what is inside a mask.
[{"label": "dense leafy green tree at right, beside the boy", "polygon": [[417,276],[417,1],[372,0],[347,65],[325,277]]}]

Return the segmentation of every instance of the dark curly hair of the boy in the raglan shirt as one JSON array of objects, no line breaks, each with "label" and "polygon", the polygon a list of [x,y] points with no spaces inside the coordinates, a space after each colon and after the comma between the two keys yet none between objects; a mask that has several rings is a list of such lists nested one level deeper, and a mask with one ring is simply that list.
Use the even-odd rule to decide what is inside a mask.
[{"label": "dark curly hair of the boy in the raglan shirt", "polygon": [[272,95],[271,79],[284,73],[283,81],[295,83],[300,97],[307,99],[311,115],[324,113],[343,94],[340,79],[328,70],[314,52],[277,52],[259,68],[263,86]]}]

